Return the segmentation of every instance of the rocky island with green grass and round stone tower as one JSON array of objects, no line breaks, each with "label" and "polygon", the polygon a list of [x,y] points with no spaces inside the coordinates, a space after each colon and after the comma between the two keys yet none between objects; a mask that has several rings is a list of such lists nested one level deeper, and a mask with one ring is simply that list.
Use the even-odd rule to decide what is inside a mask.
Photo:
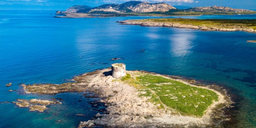
[{"label": "rocky island with green grass and round stone tower", "polygon": [[227,92],[219,86],[179,76],[126,71],[123,63],[74,76],[73,80],[63,84],[22,84],[22,87],[26,93],[50,95],[93,92],[105,104],[107,112],[81,122],[79,127],[220,126],[229,120],[224,108],[232,107]]}]

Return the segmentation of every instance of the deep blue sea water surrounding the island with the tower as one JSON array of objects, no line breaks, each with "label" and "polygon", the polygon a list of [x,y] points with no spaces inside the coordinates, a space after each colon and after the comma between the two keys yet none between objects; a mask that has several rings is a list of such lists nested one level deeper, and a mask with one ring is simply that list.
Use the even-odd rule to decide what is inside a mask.
[{"label": "deep blue sea water surrounding the island with the tower", "polygon": [[[83,93],[24,95],[20,83],[63,83],[72,76],[123,62],[145,70],[208,81],[236,96],[236,127],[256,126],[255,33],[119,25],[159,17],[54,18],[55,11],[0,11],[0,127],[76,127],[95,111]],[[181,16],[179,16],[181,17]],[[170,17],[175,18],[175,17]],[[183,18],[256,19],[256,15]],[[145,49],[144,52],[141,52]],[[111,58],[123,58],[110,61]],[[12,86],[5,84],[12,82]],[[9,92],[8,90],[15,90]],[[62,98],[62,105],[31,112],[5,101]],[[82,102],[78,102],[82,99]],[[75,116],[77,113],[86,116]],[[236,120],[239,119],[239,120]],[[56,122],[61,120],[61,122]]]}]

